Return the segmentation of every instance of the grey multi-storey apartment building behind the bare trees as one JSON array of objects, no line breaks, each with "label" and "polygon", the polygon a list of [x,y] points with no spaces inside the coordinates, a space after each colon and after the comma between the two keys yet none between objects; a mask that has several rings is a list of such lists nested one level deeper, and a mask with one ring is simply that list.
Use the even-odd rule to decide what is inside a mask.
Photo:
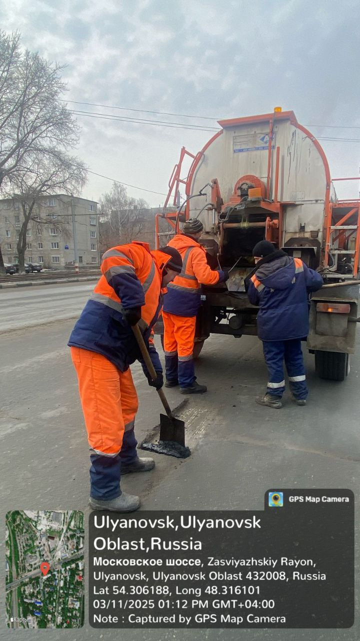
[{"label": "grey multi-storey apartment building behind the bare trees", "polygon": [[[56,194],[43,197],[33,210],[27,231],[25,262],[47,269],[74,265],[99,265],[97,203],[85,198]],[[17,263],[17,240],[23,220],[15,199],[0,200],[0,242],[4,263]],[[74,233],[73,233],[74,229]],[[76,251],[74,250],[74,236]]]}]

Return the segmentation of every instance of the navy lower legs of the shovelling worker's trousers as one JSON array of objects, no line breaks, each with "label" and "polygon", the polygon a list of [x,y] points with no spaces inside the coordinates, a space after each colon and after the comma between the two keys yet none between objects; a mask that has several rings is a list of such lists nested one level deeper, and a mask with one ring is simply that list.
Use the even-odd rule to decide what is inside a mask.
[{"label": "navy lower legs of the shovelling worker's trousers", "polygon": [[136,445],[138,444],[134,429],[124,432],[122,447],[115,456],[90,454],[90,495],[94,499],[110,501],[122,493],[120,490],[121,463],[128,465],[138,458]]}]

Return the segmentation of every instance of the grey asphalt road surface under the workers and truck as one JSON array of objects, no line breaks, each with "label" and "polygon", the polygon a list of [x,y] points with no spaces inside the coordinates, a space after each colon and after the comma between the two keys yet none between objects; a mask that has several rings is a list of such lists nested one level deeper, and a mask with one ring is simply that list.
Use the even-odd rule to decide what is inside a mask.
[{"label": "grey asphalt road surface under the workers and truck", "polygon": [[[44,296],[44,290],[47,288],[42,287],[41,292],[40,287],[31,288],[31,292],[16,291],[23,296],[18,299],[23,321],[28,305],[38,304],[38,317],[42,318],[35,298],[37,292]],[[76,306],[81,307],[86,298],[81,284],[49,290],[58,302],[58,313],[68,309],[60,290],[71,294],[69,313],[75,313]],[[49,301],[45,294],[43,303],[50,314]],[[0,304],[4,304],[1,291]],[[56,318],[54,313],[52,320]],[[76,376],[65,346],[73,324],[73,320],[64,320],[0,336],[0,528],[4,528],[4,515],[10,509],[78,509],[88,514],[88,444]],[[132,370],[140,397],[136,434],[143,438],[158,423],[161,406],[156,392],[147,386],[141,367],[136,363]],[[264,494],[270,488],[350,488],[356,494],[358,524],[360,358],[358,354],[352,358],[345,383],[316,379],[310,355],[307,370],[311,393],[305,408],[291,403],[288,394],[282,410],[263,408],[254,402],[266,383],[259,340],[211,337],[197,365],[198,380],[208,384],[208,394],[190,397],[181,413],[192,456],[183,461],[155,456],[153,472],[126,476],[122,488],[142,497],[142,509],[162,510],[262,510]],[[176,389],[166,391],[171,406],[183,401]],[[358,526],[356,542],[358,559]],[[3,572],[3,564],[0,570]],[[3,613],[1,577],[0,581]],[[111,631],[92,629],[85,622],[79,631],[48,630],[46,634],[50,641],[110,641],[119,637],[124,641],[187,641],[195,637],[209,641],[242,637],[251,641],[357,641],[360,628],[357,614],[355,626],[343,630]],[[35,640],[38,633],[28,630],[26,637]],[[0,638],[10,639],[10,631],[3,636],[0,632]]]}]

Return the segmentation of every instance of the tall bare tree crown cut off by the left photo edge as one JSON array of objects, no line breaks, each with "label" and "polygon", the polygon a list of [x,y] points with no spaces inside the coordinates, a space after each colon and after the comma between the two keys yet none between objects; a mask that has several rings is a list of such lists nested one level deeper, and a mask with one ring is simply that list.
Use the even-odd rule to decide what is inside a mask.
[{"label": "tall bare tree crown cut off by the left photo edge", "polygon": [[[60,100],[63,67],[24,51],[20,33],[0,30],[0,190],[39,158],[51,162],[78,142],[79,126]],[[0,273],[4,272],[0,248]]]}]

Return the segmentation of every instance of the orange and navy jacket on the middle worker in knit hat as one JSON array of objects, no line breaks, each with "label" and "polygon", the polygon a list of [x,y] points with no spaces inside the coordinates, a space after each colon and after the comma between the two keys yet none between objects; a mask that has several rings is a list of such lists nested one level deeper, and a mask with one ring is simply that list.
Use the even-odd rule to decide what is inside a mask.
[{"label": "orange and navy jacket on the middle worker in knit hat", "polygon": [[195,316],[200,306],[201,285],[216,285],[224,280],[224,272],[210,269],[206,249],[194,238],[177,234],[168,243],[181,254],[183,269],[167,286],[164,312],[178,316]]}]

